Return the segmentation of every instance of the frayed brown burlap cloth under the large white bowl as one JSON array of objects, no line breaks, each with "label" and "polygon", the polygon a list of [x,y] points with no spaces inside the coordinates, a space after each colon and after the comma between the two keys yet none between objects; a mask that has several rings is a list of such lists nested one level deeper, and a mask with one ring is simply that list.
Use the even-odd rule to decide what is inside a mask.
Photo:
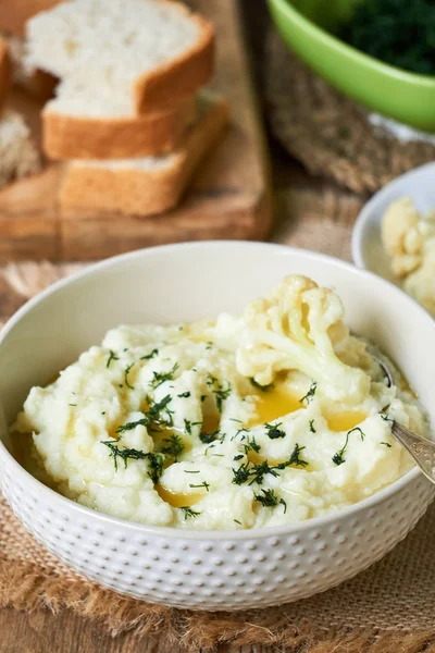
[{"label": "frayed brown burlap cloth under the large white bowl", "polygon": [[[77,267],[0,269],[0,315]],[[210,651],[220,643],[293,653],[435,652],[434,535],[435,505],[383,560],[338,588],[264,612],[194,613],[149,605],[88,582],[27,534],[0,498],[0,605],[54,612],[67,606],[113,633],[158,636],[164,642],[160,650],[171,653],[179,646]]]}]

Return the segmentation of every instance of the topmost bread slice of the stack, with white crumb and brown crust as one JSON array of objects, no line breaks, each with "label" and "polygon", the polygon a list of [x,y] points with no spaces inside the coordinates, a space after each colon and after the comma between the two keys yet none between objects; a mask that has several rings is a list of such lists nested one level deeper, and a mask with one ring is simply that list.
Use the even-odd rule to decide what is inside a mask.
[{"label": "topmost bread slice of the stack, with white crumb and brown crust", "polygon": [[160,112],[208,82],[213,40],[206,19],[172,0],[70,0],[27,23],[27,65],[88,98],[103,84],[124,113]]}]

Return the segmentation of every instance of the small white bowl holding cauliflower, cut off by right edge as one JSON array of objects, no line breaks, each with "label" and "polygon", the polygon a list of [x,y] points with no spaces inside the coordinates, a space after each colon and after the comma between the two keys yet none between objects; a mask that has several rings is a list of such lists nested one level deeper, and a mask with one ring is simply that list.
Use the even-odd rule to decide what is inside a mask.
[{"label": "small white bowl holding cauliflower, cut off by right edge", "polygon": [[402,174],[373,195],[359,213],[352,231],[355,264],[395,284],[389,257],[382,246],[381,221],[388,206],[405,196],[411,197],[423,213],[435,209],[435,163]]}]

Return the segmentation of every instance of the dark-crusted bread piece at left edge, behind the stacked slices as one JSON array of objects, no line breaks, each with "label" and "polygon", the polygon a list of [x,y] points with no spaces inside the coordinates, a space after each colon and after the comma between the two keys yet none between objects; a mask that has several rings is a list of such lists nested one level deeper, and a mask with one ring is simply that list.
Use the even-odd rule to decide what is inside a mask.
[{"label": "dark-crusted bread piece at left edge, behind the stacked slices", "polygon": [[8,42],[12,83],[24,88],[38,100],[47,101],[52,98],[59,79],[44,71],[28,70],[24,65],[25,45],[23,38],[8,33],[2,33],[1,36]]}]

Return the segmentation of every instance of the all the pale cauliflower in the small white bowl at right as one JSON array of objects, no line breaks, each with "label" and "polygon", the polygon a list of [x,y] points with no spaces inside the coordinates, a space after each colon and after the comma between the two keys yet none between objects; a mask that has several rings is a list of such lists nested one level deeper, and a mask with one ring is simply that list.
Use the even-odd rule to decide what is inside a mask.
[{"label": "all the pale cauliflower in the small white bowl at right", "polygon": [[403,291],[435,317],[435,211],[421,215],[409,197],[394,201],[382,220],[382,239]]}]

